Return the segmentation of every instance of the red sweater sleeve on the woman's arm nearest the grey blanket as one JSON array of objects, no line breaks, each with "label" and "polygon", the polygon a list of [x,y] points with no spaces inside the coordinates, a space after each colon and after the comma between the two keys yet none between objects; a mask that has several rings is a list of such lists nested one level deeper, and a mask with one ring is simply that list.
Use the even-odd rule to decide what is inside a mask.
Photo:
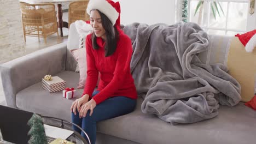
[{"label": "red sweater sleeve on the woman's arm nearest the grey blanket", "polygon": [[117,63],[115,65],[113,79],[108,83],[106,87],[104,87],[98,94],[96,94],[92,98],[96,101],[97,104],[100,104],[102,101],[112,96],[114,92],[119,89],[119,86],[123,84],[124,74],[130,73],[129,68],[132,55],[131,39],[126,35],[122,35],[122,37],[119,38],[116,52]]}]

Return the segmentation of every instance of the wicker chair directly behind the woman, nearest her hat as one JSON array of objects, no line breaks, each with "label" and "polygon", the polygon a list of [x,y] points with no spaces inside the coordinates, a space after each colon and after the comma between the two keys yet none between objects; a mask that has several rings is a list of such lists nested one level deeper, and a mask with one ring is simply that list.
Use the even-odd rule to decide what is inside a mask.
[{"label": "wicker chair directly behind the woman, nearest her hat", "polygon": [[89,0],[75,1],[69,4],[68,8],[68,27],[71,23],[77,20],[90,20],[89,15],[86,13],[86,8]]}]

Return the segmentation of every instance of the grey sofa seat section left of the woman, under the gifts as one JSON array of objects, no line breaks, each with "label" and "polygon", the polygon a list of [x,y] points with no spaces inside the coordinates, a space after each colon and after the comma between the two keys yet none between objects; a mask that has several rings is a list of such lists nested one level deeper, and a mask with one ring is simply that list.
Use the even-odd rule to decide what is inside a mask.
[{"label": "grey sofa seat section left of the woman, under the gifts", "polygon": [[[66,81],[66,87],[75,87],[79,73],[63,71],[55,76]],[[44,116],[62,118],[71,121],[70,106],[75,99],[80,98],[83,89],[76,89],[74,99],[65,99],[61,92],[49,93],[42,88],[42,83],[27,87],[16,94],[17,107],[23,110],[39,113]]]}]

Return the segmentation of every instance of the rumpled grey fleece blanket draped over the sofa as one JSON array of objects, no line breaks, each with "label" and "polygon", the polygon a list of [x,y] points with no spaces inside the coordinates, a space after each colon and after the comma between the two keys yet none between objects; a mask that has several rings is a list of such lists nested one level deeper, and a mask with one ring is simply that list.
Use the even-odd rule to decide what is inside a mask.
[{"label": "rumpled grey fleece blanket draped over the sofa", "polygon": [[131,72],[144,98],[142,112],[171,124],[194,123],[217,116],[219,104],[240,101],[240,84],[228,68],[197,57],[209,37],[196,23],[132,23],[124,32],[132,40]]}]

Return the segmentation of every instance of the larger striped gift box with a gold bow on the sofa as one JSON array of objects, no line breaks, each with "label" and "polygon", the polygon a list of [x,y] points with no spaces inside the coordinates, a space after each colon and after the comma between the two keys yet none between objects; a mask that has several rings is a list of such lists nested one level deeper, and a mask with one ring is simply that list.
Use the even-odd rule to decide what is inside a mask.
[{"label": "larger striped gift box with a gold bow on the sofa", "polygon": [[53,76],[51,81],[42,79],[42,87],[50,93],[59,92],[65,89],[66,81],[62,80],[59,76]]}]

